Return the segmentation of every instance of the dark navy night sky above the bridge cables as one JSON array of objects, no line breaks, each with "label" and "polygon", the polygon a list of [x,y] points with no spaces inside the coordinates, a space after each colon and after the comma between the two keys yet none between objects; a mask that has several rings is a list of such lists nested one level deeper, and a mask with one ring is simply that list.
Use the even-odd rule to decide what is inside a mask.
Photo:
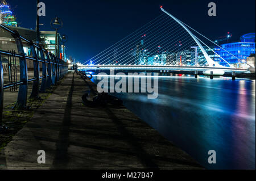
[{"label": "dark navy night sky above the bridge cables", "polygon": [[[7,0],[21,27],[36,26],[36,0]],[[214,40],[232,32],[232,40],[255,32],[255,0],[233,1],[86,1],[42,0],[46,16],[40,18],[40,30],[50,31],[50,21],[59,16],[68,35],[67,53],[81,62],[110,47],[129,33],[162,14],[159,6],[176,18]],[[208,16],[208,3],[215,2],[217,16]]]}]

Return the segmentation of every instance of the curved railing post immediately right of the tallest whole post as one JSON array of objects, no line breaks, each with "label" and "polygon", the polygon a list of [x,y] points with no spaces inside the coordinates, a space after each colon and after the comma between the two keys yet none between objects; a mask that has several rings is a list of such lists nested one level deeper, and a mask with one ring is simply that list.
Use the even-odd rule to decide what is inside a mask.
[{"label": "curved railing post immediately right of the tallest whole post", "polygon": [[29,45],[30,45],[30,50],[31,50],[32,56],[33,56],[33,58],[35,58],[35,61],[33,61],[33,65],[34,65],[34,78],[36,78],[36,80],[33,81],[32,92],[31,92],[30,98],[38,98],[39,83],[40,83],[40,70],[39,70],[39,63],[38,63],[38,55],[36,54],[36,50],[35,50],[32,40],[30,40]]}]

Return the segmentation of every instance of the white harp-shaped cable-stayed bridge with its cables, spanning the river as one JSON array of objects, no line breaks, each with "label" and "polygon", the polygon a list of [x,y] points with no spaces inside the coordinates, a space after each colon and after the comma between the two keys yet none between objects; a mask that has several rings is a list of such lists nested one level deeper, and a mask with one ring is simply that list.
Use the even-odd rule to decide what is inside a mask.
[{"label": "white harp-shaped cable-stayed bridge with its cables, spanning the river", "polygon": [[[184,70],[203,71],[204,74],[212,75],[255,71],[249,65],[245,65],[243,69],[234,68],[217,53],[222,47],[162,7],[160,9],[163,14],[78,65],[79,69]],[[232,53],[227,53],[237,58]]]}]

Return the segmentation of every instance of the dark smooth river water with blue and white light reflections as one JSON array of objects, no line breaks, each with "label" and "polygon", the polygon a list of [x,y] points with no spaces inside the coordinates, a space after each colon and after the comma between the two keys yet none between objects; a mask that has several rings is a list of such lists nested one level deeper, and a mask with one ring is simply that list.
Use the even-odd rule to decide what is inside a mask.
[{"label": "dark smooth river water with blue and white light reflections", "polygon": [[[157,99],[115,95],[204,167],[255,169],[255,80],[161,77],[158,87]],[[215,165],[208,163],[209,150],[216,150]]]}]

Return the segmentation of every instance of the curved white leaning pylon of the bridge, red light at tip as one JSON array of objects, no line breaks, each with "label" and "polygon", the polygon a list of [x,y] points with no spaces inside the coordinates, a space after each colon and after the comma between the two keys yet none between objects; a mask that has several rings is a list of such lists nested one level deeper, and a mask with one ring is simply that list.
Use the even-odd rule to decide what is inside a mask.
[{"label": "curved white leaning pylon of the bridge, red light at tip", "polygon": [[209,67],[215,67],[215,68],[226,68],[225,66],[222,66],[220,64],[217,64],[217,62],[213,61],[212,58],[210,58],[210,56],[208,55],[208,53],[205,51],[204,47],[201,45],[201,43],[199,42],[199,40],[197,40],[197,38],[195,37],[195,35],[193,35],[193,33],[188,30],[188,28],[180,22],[179,19],[175,18],[173,15],[171,15],[169,12],[167,12],[166,10],[164,10],[162,7],[160,7],[161,10],[163,12],[165,12],[167,15],[169,15],[172,19],[174,19],[177,23],[179,23],[188,33],[189,35],[193,38],[193,40],[196,41],[196,44],[198,45],[198,47],[201,49],[202,53],[204,54],[205,59],[207,60],[207,63],[209,65]]}]

